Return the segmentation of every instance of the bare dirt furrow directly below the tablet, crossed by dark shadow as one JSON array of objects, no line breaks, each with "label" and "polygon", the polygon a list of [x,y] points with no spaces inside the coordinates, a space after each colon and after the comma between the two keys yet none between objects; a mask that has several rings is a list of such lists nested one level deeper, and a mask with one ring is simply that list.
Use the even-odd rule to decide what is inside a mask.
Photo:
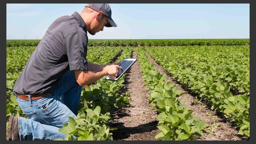
[{"label": "bare dirt furrow directly below the tablet, crossed by dark shadow", "polygon": [[[133,52],[133,57],[136,53]],[[137,60],[126,74],[126,89],[131,94],[131,107],[121,108],[112,114],[110,126],[117,128],[112,131],[113,140],[156,140],[156,111],[150,109],[149,92],[144,86]]]}]

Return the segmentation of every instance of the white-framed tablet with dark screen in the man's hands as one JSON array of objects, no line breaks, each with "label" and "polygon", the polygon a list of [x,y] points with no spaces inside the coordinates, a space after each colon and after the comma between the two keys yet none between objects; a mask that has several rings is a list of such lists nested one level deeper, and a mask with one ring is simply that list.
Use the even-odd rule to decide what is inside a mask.
[{"label": "white-framed tablet with dark screen in the man's hands", "polygon": [[112,78],[112,77],[107,76],[107,77],[105,78],[105,80],[112,80],[112,81],[117,81],[117,80],[119,80],[119,78],[124,75],[124,73],[126,72],[126,70],[127,70],[128,68],[130,68],[130,67],[135,63],[136,60],[137,60],[137,59],[125,58],[124,60],[122,60],[122,61],[119,63],[119,66],[121,66],[123,69],[118,68],[119,71],[118,71],[118,74],[117,74],[116,78]]}]

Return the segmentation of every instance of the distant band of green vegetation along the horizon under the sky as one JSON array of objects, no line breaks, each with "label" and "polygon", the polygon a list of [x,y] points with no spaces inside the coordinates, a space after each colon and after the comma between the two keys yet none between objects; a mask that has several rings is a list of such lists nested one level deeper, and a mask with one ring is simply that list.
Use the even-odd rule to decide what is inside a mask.
[{"label": "distant band of green vegetation along the horizon under the sky", "polygon": [[[40,40],[6,40],[6,47],[37,46]],[[249,45],[250,39],[91,39],[88,46]]]}]

